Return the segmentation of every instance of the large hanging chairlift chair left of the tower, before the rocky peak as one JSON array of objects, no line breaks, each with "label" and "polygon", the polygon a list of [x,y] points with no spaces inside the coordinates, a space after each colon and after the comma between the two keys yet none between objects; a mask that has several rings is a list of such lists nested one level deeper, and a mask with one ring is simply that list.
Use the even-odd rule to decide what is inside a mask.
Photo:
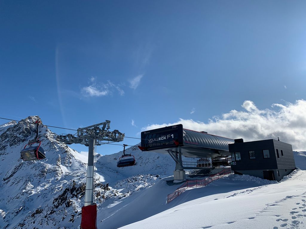
[{"label": "large hanging chairlift chair left of the tower, before the rocky peak", "polygon": [[[28,144],[24,146],[24,148],[20,151],[20,155],[22,160],[24,161],[37,161],[46,158],[46,153],[41,147],[41,141],[38,138],[38,127],[42,124],[41,120],[37,120],[36,124],[36,136],[33,140],[30,140]],[[36,146],[33,146],[37,144]]]}]

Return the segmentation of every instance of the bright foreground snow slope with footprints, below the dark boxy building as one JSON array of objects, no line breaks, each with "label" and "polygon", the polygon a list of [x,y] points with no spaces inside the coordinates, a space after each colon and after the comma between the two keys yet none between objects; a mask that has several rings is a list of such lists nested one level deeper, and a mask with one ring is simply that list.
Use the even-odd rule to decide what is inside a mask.
[{"label": "bright foreground snow slope with footprints, below the dark boxy building", "polygon": [[[294,152],[294,157],[297,166],[306,169],[305,152]],[[207,187],[185,191],[167,210],[122,229],[304,228],[306,171],[301,169],[279,183],[248,175],[224,177]],[[162,180],[158,185],[167,186]]]}]

